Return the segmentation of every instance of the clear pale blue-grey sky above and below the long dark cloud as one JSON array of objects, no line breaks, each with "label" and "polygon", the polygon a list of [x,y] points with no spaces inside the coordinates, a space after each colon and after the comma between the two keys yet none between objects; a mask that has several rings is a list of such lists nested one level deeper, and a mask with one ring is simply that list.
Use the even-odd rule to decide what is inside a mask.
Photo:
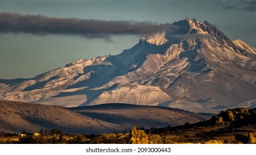
[{"label": "clear pale blue-grey sky above and below the long dark cloud", "polygon": [[[232,40],[256,47],[256,1],[203,0],[0,0],[0,13],[20,13],[58,18],[135,20],[173,23],[188,18],[207,20]],[[114,42],[73,35],[0,33],[0,79],[29,78],[78,59],[116,55],[142,36],[112,36]]]}]

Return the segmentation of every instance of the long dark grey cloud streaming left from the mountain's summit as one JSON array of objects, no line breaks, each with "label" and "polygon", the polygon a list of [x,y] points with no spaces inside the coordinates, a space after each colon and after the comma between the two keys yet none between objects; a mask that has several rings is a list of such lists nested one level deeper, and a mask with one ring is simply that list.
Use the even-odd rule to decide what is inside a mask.
[{"label": "long dark grey cloud streaming left from the mountain's summit", "polygon": [[150,34],[171,29],[173,25],[150,22],[105,21],[79,18],[54,18],[41,15],[0,13],[0,33],[30,33],[35,35],[66,34],[110,41],[111,35]]}]

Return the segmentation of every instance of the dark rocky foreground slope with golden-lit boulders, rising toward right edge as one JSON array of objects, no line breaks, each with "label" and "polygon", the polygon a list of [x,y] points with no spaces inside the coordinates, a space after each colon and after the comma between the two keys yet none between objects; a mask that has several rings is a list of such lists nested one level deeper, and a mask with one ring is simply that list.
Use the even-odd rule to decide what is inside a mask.
[{"label": "dark rocky foreground slope with golden-lit boulders, rising toward right edge", "polygon": [[[233,108],[221,111],[210,120],[185,123],[183,126],[140,131],[131,130],[131,143],[149,143],[147,134],[158,134],[157,143],[255,143],[256,108]],[[145,133],[145,134],[141,134]]]}]

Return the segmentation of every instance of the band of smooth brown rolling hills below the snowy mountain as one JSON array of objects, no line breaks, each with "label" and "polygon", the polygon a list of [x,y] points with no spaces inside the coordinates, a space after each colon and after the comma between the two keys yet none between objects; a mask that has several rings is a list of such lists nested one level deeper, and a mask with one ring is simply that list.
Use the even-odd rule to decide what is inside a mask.
[{"label": "band of smooth brown rolling hills below the snowy mountain", "polygon": [[41,128],[64,133],[114,133],[141,127],[183,125],[208,116],[168,107],[105,104],[66,108],[17,101],[0,101],[0,132],[39,132]]}]

